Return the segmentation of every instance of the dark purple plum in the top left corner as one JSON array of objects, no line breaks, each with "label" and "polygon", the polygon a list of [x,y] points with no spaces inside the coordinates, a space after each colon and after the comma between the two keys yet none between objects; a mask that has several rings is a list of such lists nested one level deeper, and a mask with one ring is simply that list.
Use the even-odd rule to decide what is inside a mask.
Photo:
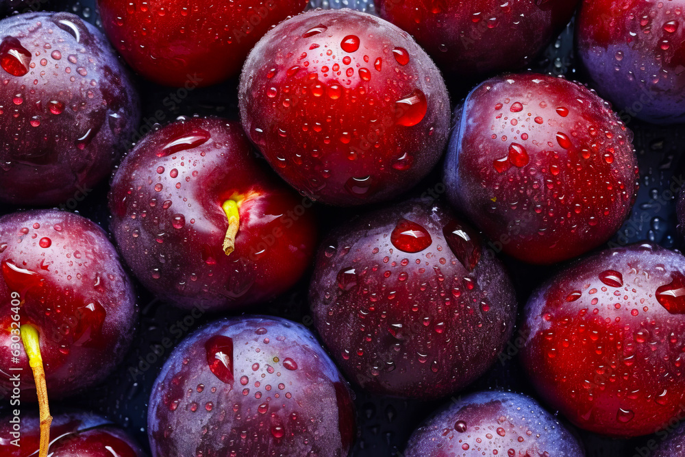
[{"label": "dark purple plum in the top left corner", "polygon": [[0,201],[83,199],[140,121],[127,71],[105,36],[74,14],[5,18],[0,36]]}]

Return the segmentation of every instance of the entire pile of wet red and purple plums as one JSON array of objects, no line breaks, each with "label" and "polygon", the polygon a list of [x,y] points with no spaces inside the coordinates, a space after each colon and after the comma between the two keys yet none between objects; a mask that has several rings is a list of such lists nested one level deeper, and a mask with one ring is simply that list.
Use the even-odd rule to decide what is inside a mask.
[{"label": "entire pile of wet red and purple plums", "polygon": [[[403,455],[584,456],[574,428],[685,417],[685,258],[606,249],[638,192],[627,123],[685,122],[685,1],[99,0],[104,32],[29,11],[51,6],[0,0],[1,455],[145,455],[84,411],[46,424],[40,380],[73,399],[124,369],[136,287],[213,319],[155,373],[155,457],[347,456],[355,391],[449,398],[517,326],[536,399],[452,397]],[[576,10],[590,88],[525,71]],[[237,84],[240,122],[141,135],[141,78]],[[445,195],[416,196],[436,170]],[[108,177],[107,227],[64,210]],[[557,273],[521,297],[500,251]],[[256,312],[303,280],[313,329]]]}]

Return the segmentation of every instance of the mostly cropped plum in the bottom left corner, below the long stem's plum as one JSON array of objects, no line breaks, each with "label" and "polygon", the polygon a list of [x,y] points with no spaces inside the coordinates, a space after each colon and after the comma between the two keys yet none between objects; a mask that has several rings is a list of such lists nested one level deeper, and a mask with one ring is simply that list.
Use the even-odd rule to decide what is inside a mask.
[{"label": "mostly cropped plum in the bottom left corner, below the long stem's plum", "polygon": [[[21,415],[20,447],[14,440],[12,417],[0,422],[0,454],[29,457],[38,455],[40,421],[38,414]],[[50,428],[51,457],[145,457],[138,443],[116,425],[88,412],[68,412],[53,417]],[[58,437],[60,437],[58,439]]]}]

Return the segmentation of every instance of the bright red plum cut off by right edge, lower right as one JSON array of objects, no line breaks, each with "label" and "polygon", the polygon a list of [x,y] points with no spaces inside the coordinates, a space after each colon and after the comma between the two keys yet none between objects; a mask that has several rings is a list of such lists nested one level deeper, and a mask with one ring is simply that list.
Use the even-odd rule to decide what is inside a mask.
[{"label": "bright red plum cut off by right edge, lower right", "polygon": [[681,254],[630,245],[580,260],[533,293],[521,359],[540,397],[609,436],[653,433],[681,415],[683,273]]}]

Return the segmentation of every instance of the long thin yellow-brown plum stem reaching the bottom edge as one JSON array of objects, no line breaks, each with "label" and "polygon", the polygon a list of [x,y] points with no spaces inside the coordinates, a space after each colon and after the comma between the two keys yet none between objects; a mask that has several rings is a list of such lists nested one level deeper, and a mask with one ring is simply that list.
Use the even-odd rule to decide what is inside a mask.
[{"label": "long thin yellow-brown plum stem reaching the bottom edge", "polygon": [[19,328],[21,340],[24,343],[26,355],[29,357],[29,367],[34,372],[36,382],[36,394],[38,395],[38,410],[40,412],[40,451],[38,457],[47,457],[50,447],[50,424],[52,416],[47,401],[47,384],[45,382],[45,369],[40,355],[40,336],[38,330],[31,324],[25,323]]}]

